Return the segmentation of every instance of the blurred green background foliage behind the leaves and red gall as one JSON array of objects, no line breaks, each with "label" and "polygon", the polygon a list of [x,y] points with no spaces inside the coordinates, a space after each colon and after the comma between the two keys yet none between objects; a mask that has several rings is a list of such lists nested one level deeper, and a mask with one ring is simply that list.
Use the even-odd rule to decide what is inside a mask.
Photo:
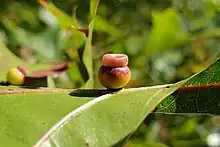
[{"label": "blurred green background foliage behind the leaves and red gall", "polygon": [[[70,23],[76,24],[77,19],[76,26],[88,27],[89,0],[54,0],[53,4],[72,16]],[[3,0],[0,10],[0,39],[11,52],[29,63],[70,60],[68,71],[54,79],[56,87],[85,84],[84,65],[80,64],[85,42],[78,33],[62,28],[60,22],[68,16],[57,20],[36,0]],[[217,0],[101,0],[91,54],[95,87],[101,87],[96,73],[107,52],[128,54],[132,80],[127,87],[189,77],[219,56],[219,27]],[[149,142],[207,146],[207,136],[219,127],[213,119],[153,114],[127,146],[146,146]]]}]

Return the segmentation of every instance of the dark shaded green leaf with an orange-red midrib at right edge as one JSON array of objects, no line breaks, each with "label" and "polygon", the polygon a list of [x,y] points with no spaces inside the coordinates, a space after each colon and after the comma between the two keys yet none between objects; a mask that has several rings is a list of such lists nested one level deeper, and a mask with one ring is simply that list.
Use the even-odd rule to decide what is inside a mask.
[{"label": "dark shaded green leaf with an orange-red midrib at right edge", "polygon": [[220,58],[184,85],[191,87],[167,97],[157,112],[220,114]]}]

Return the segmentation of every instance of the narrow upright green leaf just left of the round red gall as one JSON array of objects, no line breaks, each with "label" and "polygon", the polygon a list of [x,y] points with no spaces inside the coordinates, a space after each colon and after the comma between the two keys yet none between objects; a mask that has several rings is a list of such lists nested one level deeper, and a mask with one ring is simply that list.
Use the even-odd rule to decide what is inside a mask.
[{"label": "narrow upright green leaf just left of the round red gall", "polygon": [[83,52],[83,62],[89,74],[89,79],[85,84],[85,88],[93,88],[94,87],[94,73],[93,73],[93,53],[92,53],[92,34],[93,34],[93,27],[95,23],[95,15],[98,9],[99,0],[91,0],[90,1],[90,15],[91,21],[89,23],[89,34],[86,40],[86,46]]}]

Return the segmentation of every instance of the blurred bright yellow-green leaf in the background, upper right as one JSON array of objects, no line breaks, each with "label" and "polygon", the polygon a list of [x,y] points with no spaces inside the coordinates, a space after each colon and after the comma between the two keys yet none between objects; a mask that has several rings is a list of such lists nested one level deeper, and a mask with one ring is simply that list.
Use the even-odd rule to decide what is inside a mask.
[{"label": "blurred bright yellow-green leaf in the background, upper right", "polygon": [[153,54],[175,45],[182,44],[187,39],[187,32],[181,28],[181,17],[172,8],[163,12],[152,12],[153,29],[147,40],[145,52]]}]

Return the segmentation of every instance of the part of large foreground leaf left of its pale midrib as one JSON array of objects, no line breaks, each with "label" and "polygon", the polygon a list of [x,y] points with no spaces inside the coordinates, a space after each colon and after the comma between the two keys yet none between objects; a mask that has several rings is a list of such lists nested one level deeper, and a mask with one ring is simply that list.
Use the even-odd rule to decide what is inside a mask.
[{"label": "part of large foreground leaf left of its pale midrib", "polygon": [[64,115],[88,102],[70,90],[0,87],[1,146],[33,146]]}]

